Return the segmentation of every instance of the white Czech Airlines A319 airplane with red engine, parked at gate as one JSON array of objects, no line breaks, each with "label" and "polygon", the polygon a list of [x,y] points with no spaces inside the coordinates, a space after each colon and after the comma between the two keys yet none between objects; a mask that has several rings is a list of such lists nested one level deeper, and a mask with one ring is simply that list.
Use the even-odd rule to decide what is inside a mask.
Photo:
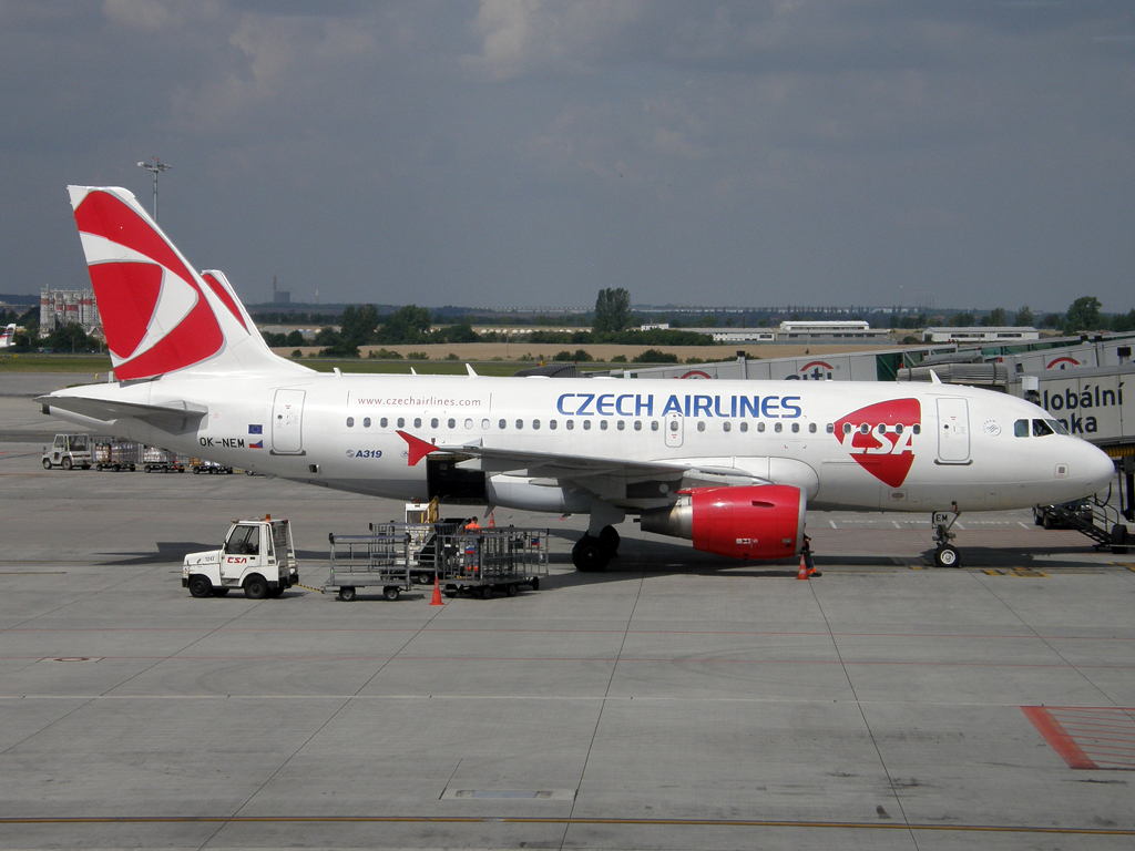
[{"label": "white Czech Airlines A319 airplane with red engine, parked at gate", "polygon": [[809,509],[930,512],[935,564],[959,566],[961,512],[1112,478],[1043,408],[941,382],[317,372],[272,353],[225,275],[194,271],[133,194],[68,191],[114,373],[39,397],[44,413],[328,488],[587,514],[580,571],[616,556],[627,515],[698,550],[796,557]]}]

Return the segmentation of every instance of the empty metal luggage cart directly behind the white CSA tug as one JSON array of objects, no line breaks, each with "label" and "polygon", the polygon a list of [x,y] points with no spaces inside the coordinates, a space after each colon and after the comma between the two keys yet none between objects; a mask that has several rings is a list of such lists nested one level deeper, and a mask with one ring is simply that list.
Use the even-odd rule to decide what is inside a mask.
[{"label": "empty metal luggage cart directly behind the white CSA tug", "polygon": [[413,585],[410,581],[412,533],[396,524],[371,526],[370,534],[328,534],[330,575],[323,592],[338,591],[340,600],[353,600],[356,589],[381,587],[388,600],[398,599]]}]

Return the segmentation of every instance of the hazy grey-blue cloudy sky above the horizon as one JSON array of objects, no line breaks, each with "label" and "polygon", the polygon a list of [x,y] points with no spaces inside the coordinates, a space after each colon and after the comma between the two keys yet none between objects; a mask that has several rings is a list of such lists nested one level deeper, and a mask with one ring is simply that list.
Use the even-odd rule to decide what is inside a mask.
[{"label": "hazy grey-blue cloudy sky above the horizon", "polygon": [[1130,0],[0,0],[0,292],[111,184],[250,302],[1135,305]]}]

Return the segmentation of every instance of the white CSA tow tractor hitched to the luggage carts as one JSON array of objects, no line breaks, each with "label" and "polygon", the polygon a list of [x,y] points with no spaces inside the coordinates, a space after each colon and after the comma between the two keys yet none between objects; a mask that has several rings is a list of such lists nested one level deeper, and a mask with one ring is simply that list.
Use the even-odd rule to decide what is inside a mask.
[{"label": "white CSA tow tractor hitched to the luggage carts", "polygon": [[182,588],[194,597],[224,597],[244,589],[250,600],[279,597],[300,581],[286,520],[234,520],[220,549],[191,553],[182,566]]}]

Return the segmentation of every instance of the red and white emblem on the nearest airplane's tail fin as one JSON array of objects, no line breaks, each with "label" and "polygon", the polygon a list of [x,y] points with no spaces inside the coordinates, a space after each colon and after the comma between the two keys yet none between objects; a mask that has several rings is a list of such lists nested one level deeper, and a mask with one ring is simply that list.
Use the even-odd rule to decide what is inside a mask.
[{"label": "red and white emblem on the nearest airplane's tail fin", "polygon": [[217,354],[225,336],[200,279],[161,231],[136,202],[81,191],[75,221],[117,377],[150,378]]}]

